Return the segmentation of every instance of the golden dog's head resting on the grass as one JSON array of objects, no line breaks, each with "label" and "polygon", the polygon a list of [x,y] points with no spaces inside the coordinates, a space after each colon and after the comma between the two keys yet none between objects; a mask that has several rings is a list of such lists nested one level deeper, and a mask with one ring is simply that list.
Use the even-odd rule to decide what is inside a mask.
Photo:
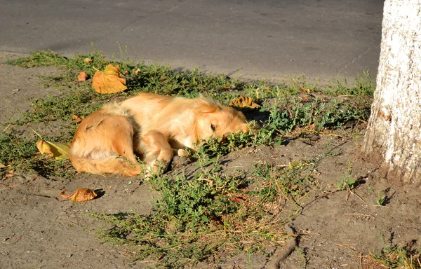
[{"label": "golden dog's head resting on the grass", "polygon": [[225,137],[230,133],[248,133],[246,116],[232,107],[201,97],[196,106],[196,132],[199,139]]}]

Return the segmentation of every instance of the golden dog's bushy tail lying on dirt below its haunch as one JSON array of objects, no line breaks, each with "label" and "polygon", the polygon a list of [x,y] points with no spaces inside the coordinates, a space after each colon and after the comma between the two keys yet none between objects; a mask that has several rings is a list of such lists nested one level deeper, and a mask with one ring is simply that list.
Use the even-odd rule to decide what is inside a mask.
[{"label": "golden dog's bushy tail lying on dirt below its haunch", "polygon": [[131,163],[119,156],[109,156],[100,159],[81,158],[70,154],[72,165],[79,172],[92,174],[123,174],[126,177],[133,177],[140,174],[143,168],[137,163]]}]

